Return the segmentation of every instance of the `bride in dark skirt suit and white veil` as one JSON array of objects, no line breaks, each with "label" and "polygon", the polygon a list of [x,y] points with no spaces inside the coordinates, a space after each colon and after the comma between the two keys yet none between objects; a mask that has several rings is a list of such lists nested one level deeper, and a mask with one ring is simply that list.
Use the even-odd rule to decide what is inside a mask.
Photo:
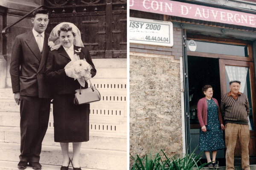
[{"label": "bride in dark skirt suit and white veil", "polygon": [[[53,90],[54,140],[60,142],[63,153],[61,170],[68,170],[71,162],[74,170],[81,170],[79,153],[81,142],[89,140],[90,104],[75,105],[75,90],[80,88],[78,79],[70,77],[70,69],[65,66],[79,59],[90,64],[90,76],[96,69],[90,53],[84,48],[79,29],[72,23],[60,23],[53,28],[48,45],[51,47],[46,65],[46,77]],[[72,69],[71,69],[72,70]],[[74,70],[74,69],[73,69]],[[88,88],[85,82],[85,88]],[[69,142],[73,143],[73,158],[69,157]]]}]

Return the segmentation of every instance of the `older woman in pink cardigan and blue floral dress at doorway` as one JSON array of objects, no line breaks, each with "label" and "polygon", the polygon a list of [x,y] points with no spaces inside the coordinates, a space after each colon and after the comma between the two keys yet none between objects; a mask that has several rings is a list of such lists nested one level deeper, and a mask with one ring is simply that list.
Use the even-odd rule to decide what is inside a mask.
[{"label": "older woman in pink cardigan and blue floral dress at doorway", "polygon": [[[217,150],[225,147],[223,134],[224,125],[221,117],[218,101],[212,98],[213,90],[211,85],[205,85],[202,89],[205,97],[198,101],[198,120],[201,125],[199,150],[204,150],[209,168],[216,167]],[[212,160],[210,151],[212,150]]]}]

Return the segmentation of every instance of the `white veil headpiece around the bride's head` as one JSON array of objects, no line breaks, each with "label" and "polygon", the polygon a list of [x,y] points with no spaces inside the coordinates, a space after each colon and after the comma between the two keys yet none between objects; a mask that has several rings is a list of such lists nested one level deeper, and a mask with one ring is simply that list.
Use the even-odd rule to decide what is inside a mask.
[{"label": "white veil headpiece around the bride's head", "polygon": [[61,26],[63,26],[63,24],[68,24],[70,27],[72,27],[72,31],[76,34],[75,40],[73,42],[74,45],[78,47],[84,47],[84,44],[81,40],[80,30],[73,23],[60,23],[52,29],[50,36],[48,38],[48,45],[51,48],[51,50],[57,50],[61,46],[58,31],[60,30]]}]

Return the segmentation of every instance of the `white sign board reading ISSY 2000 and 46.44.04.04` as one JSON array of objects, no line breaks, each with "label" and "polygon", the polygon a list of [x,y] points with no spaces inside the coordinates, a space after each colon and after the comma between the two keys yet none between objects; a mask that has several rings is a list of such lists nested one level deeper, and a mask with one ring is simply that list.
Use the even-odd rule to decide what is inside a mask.
[{"label": "white sign board reading ISSY 2000 and 46.44.04.04", "polygon": [[168,21],[130,17],[130,42],[172,47],[173,27]]}]

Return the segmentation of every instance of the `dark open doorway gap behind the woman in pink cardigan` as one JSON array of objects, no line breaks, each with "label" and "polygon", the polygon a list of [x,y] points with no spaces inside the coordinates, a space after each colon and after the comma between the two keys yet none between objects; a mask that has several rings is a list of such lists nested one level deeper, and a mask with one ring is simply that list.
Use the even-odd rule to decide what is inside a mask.
[{"label": "dark open doorway gap behind the woman in pink cardigan", "polygon": [[[219,59],[208,57],[188,56],[188,76],[189,76],[189,111],[190,111],[190,144],[194,150],[199,144],[200,125],[197,119],[197,103],[204,97],[202,87],[211,85],[213,88],[213,98],[221,103],[221,85],[219,72]],[[197,150],[196,154],[201,151]],[[202,161],[207,162],[204,153],[201,155]],[[224,149],[217,151],[217,160],[220,166],[225,166]]]}]

